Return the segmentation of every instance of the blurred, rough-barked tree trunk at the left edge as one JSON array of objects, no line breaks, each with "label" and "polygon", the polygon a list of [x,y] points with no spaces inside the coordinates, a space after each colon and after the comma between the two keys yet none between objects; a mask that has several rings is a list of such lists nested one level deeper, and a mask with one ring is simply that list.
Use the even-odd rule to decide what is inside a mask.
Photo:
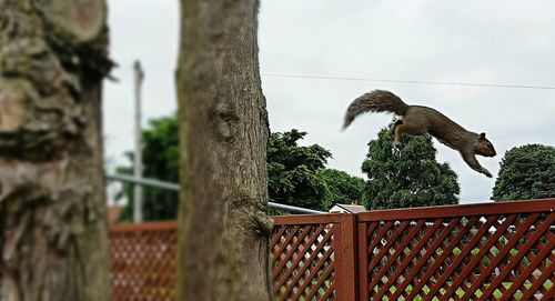
[{"label": "blurred, rough-barked tree trunk at the left edge", "polygon": [[104,6],[0,0],[1,301],[110,300]]}]

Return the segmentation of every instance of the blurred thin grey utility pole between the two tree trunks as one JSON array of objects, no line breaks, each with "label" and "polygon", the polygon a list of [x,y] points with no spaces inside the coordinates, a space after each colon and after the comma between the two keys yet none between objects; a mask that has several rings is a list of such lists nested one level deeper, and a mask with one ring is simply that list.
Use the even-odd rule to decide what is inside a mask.
[{"label": "blurred thin grey utility pole between the two tree trunks", "polygon": [[[141,131],[141,87],[144,79],[144,72],[141,62],[135,60],[134,71],[134,97],[135,97],[135,152],[134,152],[134,178],[142,178],[142,131]],[[142,187],[133,187],[133,221],[142,222]]]}]

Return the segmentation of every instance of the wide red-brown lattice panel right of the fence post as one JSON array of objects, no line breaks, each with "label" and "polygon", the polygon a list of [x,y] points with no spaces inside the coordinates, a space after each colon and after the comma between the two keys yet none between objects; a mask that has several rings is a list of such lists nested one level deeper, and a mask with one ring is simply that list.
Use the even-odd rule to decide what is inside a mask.
[{"label": "wide red-brown lattice panel right of the fence post", "polygon": [[[553,300],[552,213],[366,223],[370,300]],[[363,269],[363,268],[361,268]]]}]

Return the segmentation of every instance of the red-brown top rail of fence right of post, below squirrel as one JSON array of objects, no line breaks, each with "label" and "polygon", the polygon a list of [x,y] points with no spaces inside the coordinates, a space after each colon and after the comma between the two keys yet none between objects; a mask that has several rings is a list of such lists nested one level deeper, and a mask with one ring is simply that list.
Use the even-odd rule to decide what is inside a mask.
[{"label": "red-brown top rail of fence right of post, below squirrel", "polygon": [[465,215],[513,214],[533,212],[553,212],[555,199],[527,201],[503,201],[496,203],[454,204],[418,208],[373,210],[357,214],[359,222],[410,220],[423,218],[454,218]]}]

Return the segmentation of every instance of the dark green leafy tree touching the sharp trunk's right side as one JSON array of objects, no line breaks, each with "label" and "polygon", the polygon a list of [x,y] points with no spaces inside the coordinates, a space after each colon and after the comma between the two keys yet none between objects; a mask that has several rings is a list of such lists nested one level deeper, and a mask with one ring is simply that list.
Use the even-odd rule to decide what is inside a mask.
[{"label": "dark green leafy tree touching the sharp trunk's right side", "polygon": [[274,132],[268,147],[270,200],[327,211],[360,200],[364,180],[325,168],[332,153],[319,144],[299,146],[306,132]]}]

